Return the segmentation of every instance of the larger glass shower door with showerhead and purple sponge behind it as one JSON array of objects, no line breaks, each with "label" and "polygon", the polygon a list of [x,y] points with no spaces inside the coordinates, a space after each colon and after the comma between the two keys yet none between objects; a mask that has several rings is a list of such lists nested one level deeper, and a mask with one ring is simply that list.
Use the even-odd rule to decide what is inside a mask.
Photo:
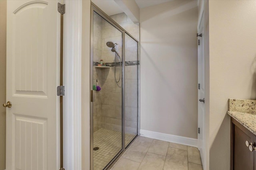
[{"label": "larger glass shower door with showerhead and purple sponge behind it", "polygon": [[93,169],[122,151],[122,32],[93,12]]}]

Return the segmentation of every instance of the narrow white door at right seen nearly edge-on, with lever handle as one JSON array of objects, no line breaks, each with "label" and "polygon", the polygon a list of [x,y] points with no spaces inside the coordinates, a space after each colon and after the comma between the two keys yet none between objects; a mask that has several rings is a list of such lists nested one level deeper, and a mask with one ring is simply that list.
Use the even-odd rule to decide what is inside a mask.
[{"label": "narrow white door at right seen nearly edge-on, with lever handle", "polygon": [[[198,37],[198,128],[200,128],[200,133],[198,133],[198,149],[200,150],[202,163],[204,166],[205,159],[205,124],[204,124],[204,115],[205,115],[205,105],[204,102],[199,100],[205,98],[205,74],[204,74],[204,14],[201,18],[198,34],[202,34],[202,37]],[[200,44],[199,44],[200,42]]]}]

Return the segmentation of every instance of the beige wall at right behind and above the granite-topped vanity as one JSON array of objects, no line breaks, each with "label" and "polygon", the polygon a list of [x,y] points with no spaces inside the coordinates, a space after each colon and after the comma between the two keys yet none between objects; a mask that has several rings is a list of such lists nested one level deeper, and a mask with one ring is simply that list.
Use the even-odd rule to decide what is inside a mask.
[{"label": "beige wall at right behind and above the granite-topped vanity", "polygon": [[256,98],[256,1],[210,0],[210,170],[230,168],[228,98]]}]

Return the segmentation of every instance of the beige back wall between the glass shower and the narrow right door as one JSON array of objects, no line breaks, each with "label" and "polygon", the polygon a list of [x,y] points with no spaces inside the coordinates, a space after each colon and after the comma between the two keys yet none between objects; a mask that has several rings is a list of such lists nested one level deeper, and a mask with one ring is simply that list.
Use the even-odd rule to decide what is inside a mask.
[{"label": "beige back wall between the glass shower and the narrow right door", "polygon": [[140,129],[197,139],[197,1],[140,9]]}]

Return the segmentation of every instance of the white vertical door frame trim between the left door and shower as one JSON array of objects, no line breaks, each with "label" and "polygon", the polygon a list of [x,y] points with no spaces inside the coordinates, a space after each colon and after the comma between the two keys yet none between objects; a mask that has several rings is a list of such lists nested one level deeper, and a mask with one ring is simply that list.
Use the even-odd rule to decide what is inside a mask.
[{"label": "white vertical door frame trim between the left door and shower", "polygon": [[[82,169],[82,0],[64,0],[63,167]],[[90,31],[90,30],[89,30]]]}]

